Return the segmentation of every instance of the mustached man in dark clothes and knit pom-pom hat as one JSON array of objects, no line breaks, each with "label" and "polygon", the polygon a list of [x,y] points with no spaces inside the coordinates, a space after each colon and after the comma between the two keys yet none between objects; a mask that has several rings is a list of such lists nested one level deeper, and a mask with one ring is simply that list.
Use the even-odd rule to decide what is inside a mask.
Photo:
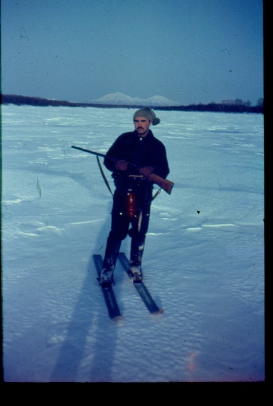
[{"label": "mustached man in dark clothes and knit pom-pom hat", "polygon": [[[102,286],[112,285],[122,240],[131,237],[130,272],[133,282],[142,281],[142,255],[149,226],[153,182],[149,175],[163,178],[169,173],[165,146],[154,137],[151,125],[160,120],[148,107],[134,113],[135,130],[121,134],[109,149],[104,165],[112,173],[116,190],[113,197],[112,225],[100,275]],[[133,164],[133,165],[131,165]],[[129,229],[131,225],[131,228]]]}]

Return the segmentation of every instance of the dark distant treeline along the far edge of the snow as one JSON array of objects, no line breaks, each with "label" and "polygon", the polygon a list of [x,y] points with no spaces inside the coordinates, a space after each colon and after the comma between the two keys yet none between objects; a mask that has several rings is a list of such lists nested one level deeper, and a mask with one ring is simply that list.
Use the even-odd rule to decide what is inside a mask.
[{"label": "dark distant treeline along the far edge of the snow", "polygon": [[[142,105],[113,105],[97,103],[73,103],[65,100],[43,99],[41,97],[18,96],[14,94],[3,94],[2,104],[16,104],[31,106],[68,106],[68,107],[104,107],[104,108],[140,108]],[[263,99],[258,99],[256,106],[250,101],[242,99],[222,100],[221,103],[190,104],[187,106],[149,106],[155,110],[172,110],[180,112],[222,112],[222,113],[263,113]]]}]

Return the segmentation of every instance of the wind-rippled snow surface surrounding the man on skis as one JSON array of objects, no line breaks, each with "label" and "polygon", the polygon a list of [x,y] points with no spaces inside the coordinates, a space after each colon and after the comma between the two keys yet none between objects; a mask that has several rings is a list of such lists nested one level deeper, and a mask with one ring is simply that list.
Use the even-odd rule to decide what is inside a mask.
[{"label": "wind-rippled snow surface surrounding the man on skis", "polygon": [[143,269],[164,313],[117,266],[117,322],[92,260],[112,198],[71,145],[105,153],[133,111],[2,107],[5,381],[263,381],[263,116],[160,112],[175,184],[152,204]]}]

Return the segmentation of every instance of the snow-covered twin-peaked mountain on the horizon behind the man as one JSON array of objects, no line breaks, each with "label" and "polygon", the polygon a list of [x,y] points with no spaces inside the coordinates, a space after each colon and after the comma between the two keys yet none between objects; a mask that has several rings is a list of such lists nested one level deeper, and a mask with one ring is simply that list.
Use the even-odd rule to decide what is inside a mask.
[{"label": "snow-covered twin-peaked mountain on the horizon behind the man", "polygon": [[92,100],[91,103],[113,104],[113,105],[140,105],[140,106],[179,106],[181,103],[167,99],[163,96],[153,96],[148,99],[130,97],[123,93],[110,93],[99,99]]}]

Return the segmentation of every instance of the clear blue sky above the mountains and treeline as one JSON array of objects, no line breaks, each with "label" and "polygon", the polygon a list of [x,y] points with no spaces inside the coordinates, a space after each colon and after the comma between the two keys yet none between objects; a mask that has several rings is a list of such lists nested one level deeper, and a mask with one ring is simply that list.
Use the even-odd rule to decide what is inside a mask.
[{"label": "clear blue sky above the mountains and treeline", "polygon": [[263,97],[262,0],[2,0],[2,93]]}]

